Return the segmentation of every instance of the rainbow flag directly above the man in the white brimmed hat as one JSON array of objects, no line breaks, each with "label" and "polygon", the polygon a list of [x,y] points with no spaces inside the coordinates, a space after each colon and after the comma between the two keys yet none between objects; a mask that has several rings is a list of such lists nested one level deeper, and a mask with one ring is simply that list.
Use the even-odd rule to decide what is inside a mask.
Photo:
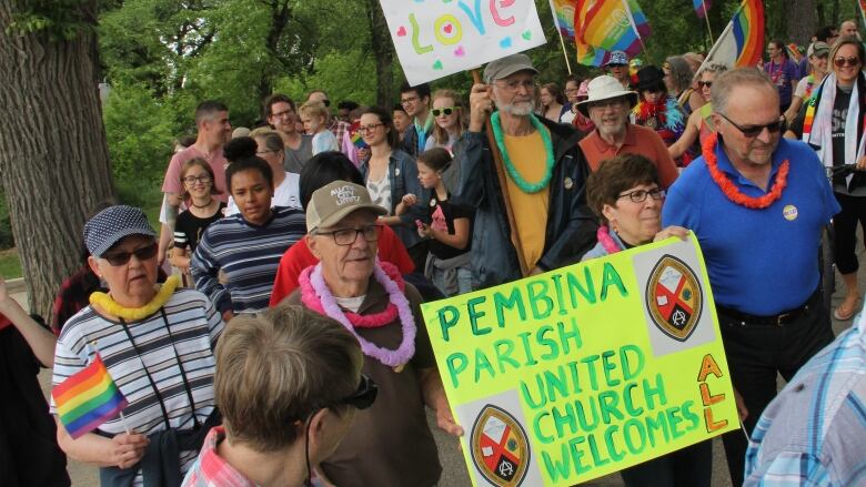
[{"label": "rainbow flag directly above the man in the white brimmed hat", "polygon": [[574,11],[577,62],[602,65],[612,51],[641,52],[650,24],[637,0],[577,0]]}]

